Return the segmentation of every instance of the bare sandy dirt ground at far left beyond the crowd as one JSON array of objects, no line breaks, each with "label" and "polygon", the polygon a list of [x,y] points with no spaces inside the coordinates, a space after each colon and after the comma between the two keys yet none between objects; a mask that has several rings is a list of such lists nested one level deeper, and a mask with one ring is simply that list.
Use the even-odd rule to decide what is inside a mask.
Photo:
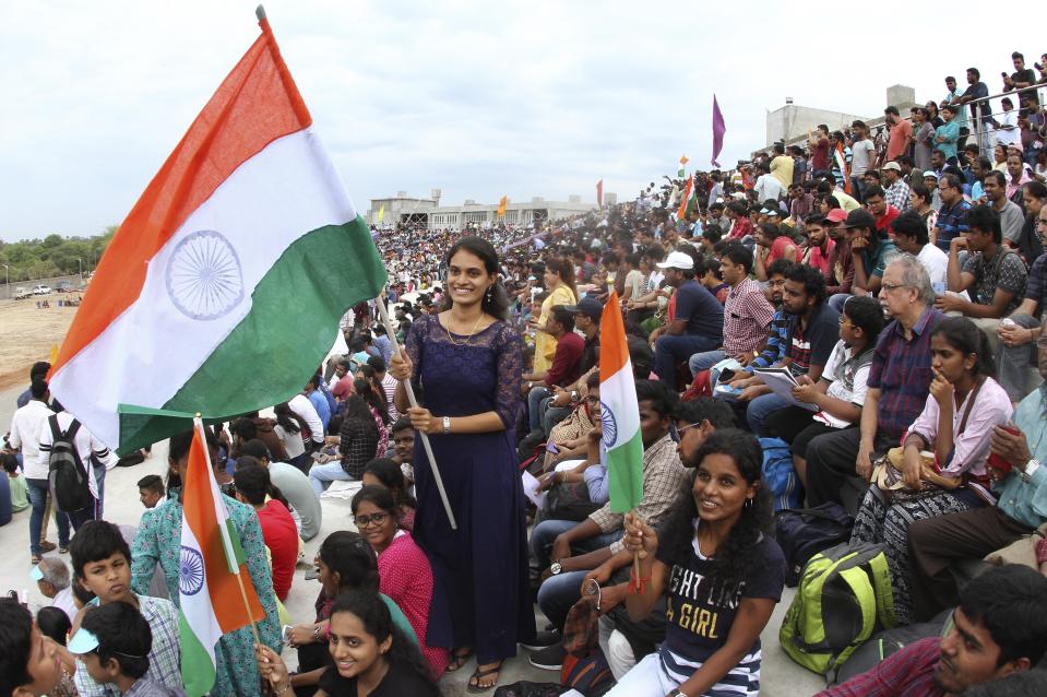
[{"label": "bare sandy dirt ground at far left beyond the crowd", "polygon": [[60,294],[46,297],[47,308],[37,308],[35,298],[0,300],[0,388],[26,382],[32,365],[48,361],[66,338],[79,308],[58,307]]}]

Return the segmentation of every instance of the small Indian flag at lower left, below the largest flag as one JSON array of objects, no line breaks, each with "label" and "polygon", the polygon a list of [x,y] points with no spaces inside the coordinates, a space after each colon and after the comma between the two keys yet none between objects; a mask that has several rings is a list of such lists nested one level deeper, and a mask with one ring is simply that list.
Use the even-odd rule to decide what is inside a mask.
[{"label": "small Indian flag at lower left, below the largest flag", "polygon": [[201,697],[214,686],[218,639],[262,619],[265,611],[243,567],[243,550],[218,492],[199,417],[182,483],[178,594],[182,681],[189,697]]}]

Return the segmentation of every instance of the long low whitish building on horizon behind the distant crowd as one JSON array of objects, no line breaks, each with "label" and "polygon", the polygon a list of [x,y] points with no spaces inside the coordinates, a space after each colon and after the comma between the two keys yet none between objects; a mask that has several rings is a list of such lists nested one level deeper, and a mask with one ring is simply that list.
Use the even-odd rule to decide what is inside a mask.
[{"label": "long low whitish building on horizon behind the distant crowd", "polygon": [[[604,199],[610,203],[616,197],[606,193]],[[583,203],[580,196],[570,196],[567,201],[546,201],[536,196],[524,203],[510,200],[505,205],[505,217],[499,218],[498,203],[477,203],[467,199],[462,205],[440,205],[440,189],[433,189],[427,199],[398,191],[395,197],[388,199],[371,199],[371,208],[366,216],[369,225],[379,225],[378,214],[383,206],[381,224],[394,225],[409,221],[425,223],[429,229],[462,229],[469,224],[483,226],[495,222],[531,225],[596,209],[595,203]]]}]

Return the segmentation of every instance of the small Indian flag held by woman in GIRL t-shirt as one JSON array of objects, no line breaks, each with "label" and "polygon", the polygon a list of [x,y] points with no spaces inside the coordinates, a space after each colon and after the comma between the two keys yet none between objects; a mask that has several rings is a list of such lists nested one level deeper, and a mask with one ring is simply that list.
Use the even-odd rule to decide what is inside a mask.
[{"label": "small Indian flag held by woman in GIRL t-shirt", "polygon": [[624,513],[643,498],[643,440],[636,379],[615,291],[604,306],[599,323],[599,400],[610,509]]}]

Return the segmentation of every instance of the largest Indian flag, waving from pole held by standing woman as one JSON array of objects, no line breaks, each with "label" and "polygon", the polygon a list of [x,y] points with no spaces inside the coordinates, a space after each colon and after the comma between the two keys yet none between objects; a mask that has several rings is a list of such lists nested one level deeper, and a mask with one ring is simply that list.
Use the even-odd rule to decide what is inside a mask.
[{"label": "largest Indian flag, waving from pole held by standing woman", "polygon": [[[51,371],[62,404],[120,452],[185,429],[150,409],[225,418],[290,398],[345,310],[385,283],[261,28],[120,225]],[[138,418],[120,418],[128,405]]]}]

